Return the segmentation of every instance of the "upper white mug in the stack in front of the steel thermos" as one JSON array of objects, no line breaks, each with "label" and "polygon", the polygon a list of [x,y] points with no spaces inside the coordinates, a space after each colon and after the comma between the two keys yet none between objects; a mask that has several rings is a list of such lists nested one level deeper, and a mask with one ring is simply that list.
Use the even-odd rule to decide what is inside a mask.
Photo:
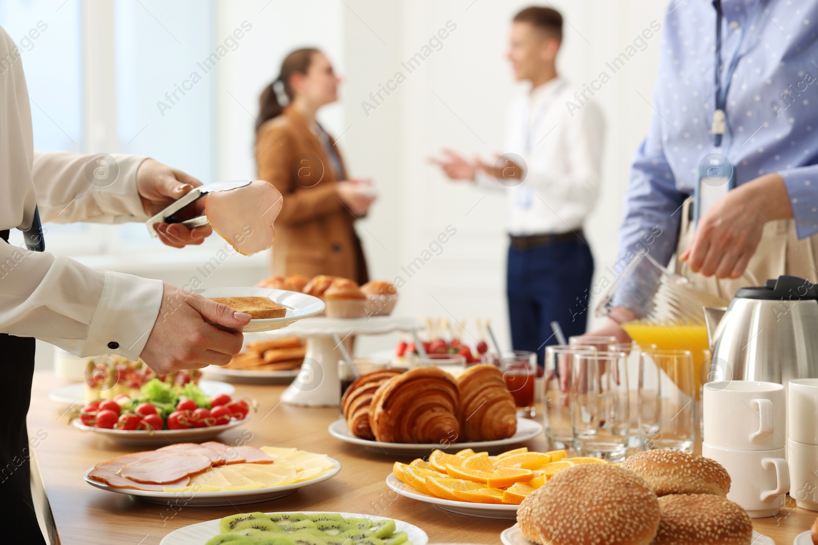
[{"label": "upper white mug in the stack in front of the steel thermos", "polygon": [[786,394],[780,384],[708,382],[703,409],[707,444],[738,450],[783,449],[786,444]]}]

